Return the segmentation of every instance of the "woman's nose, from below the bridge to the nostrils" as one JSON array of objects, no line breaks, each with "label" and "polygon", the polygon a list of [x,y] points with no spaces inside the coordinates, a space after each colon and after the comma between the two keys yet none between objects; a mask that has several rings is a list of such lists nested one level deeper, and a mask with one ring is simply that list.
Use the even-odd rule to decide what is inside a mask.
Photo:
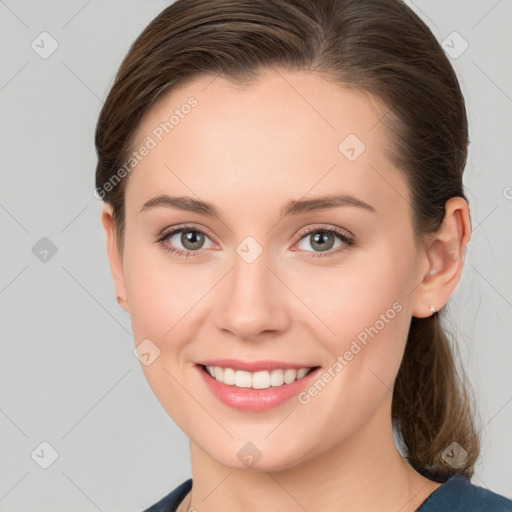
[{"label": "woman's nose, from below the bridge to the nostrils", "polygon": [[271,266],[265,252],[252,262],[235,255],[233,268],[215,297],[219,330],[256,340],[277,336],[289,327],[293,294]]}]

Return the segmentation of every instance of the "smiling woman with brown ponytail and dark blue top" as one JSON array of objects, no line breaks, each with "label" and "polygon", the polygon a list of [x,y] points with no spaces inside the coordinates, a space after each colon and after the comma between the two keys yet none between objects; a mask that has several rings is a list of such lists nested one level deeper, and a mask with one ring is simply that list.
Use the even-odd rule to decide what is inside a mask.
[{"label": "smiling woman with brown ponytail and dark blue top", "polygon": [[439,318],[467,144],[456,75],[402,2],[178,0],[143,31],[96,194],[143,371],[190,439],[192,478],[147,510],[512,509],[469,480]]}]

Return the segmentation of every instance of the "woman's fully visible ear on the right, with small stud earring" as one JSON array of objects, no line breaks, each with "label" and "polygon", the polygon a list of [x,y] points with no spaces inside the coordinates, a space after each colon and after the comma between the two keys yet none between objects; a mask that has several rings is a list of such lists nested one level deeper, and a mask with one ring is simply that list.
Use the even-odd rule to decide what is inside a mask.
[{"label": "woman's fully visible ear on the right, with small stud earring", "polygon": [[430,306],[439,311],[448,302],[460,280],[470,236],[468,203],[462,197],[452,197],[445,204],[441,227],[428,238],[425,249],[427,272],[414,290],[413,316],[431,316]]}]

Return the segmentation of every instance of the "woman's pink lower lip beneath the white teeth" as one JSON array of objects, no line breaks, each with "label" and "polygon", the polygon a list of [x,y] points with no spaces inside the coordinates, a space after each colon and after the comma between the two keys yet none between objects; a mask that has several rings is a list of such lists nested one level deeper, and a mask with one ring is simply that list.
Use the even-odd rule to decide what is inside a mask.
[{"label": "woman's pink lower lip beneath the white teeth", "polygon": [[250,412],[263,412],[273,409],[298,395],[314,378],[320,368],[311,370],[302,379],[282,386],[266,389],[238,388],[228,386],[214,379],[201,365],[196,365],[208,389],[224,404]]}]

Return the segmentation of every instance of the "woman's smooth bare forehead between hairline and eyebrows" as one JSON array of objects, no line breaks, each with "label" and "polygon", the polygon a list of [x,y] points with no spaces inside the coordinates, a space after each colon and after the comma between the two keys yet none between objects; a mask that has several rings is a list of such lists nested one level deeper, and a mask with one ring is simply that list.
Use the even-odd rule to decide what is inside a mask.
[{"label": "woman's smooth bare forehead between hairline and eyebrows", "polygon": [[215,204],[232,204],[236,194],[240,205],[261,209],[262,198],[277,208],[333,191],[398,207],[408,190],[385,154],[385,112],[375,97],[309,72],[266,72],[244,87],[193,80],[141,123],[132,149],[151,149],[130,172],[127,210],[165,193]]}]

